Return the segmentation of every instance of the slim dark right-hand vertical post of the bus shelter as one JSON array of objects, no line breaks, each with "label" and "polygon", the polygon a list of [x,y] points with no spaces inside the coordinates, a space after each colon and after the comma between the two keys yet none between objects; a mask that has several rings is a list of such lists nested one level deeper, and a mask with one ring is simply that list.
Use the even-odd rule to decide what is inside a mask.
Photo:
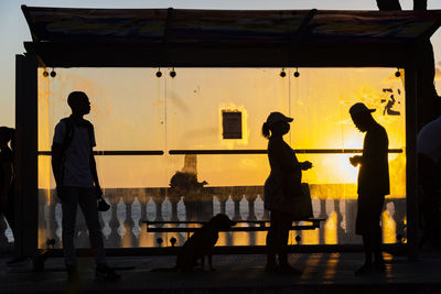
[{"label": "slim dark right-hand vertical post of the bus shelter", "polygon": [[412,63],[405,69],[406,87],[406,208],[408,260],[418,259],[418,102],[420,84],[418,67]]}]

